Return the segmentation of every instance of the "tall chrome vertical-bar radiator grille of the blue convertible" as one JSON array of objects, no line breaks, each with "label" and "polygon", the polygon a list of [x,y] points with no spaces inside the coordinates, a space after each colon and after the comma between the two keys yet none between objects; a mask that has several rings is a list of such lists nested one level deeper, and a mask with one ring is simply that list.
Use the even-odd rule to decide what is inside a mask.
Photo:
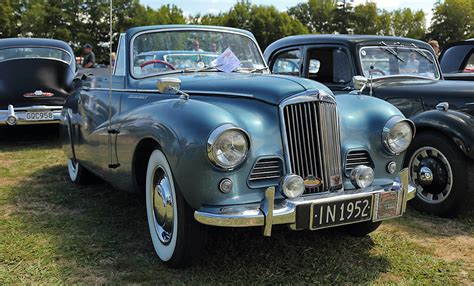
[{"label": "tall chrome vertical-bar radiator grille of the blue convertible", "polygon": [[340,189],[341,139],[335,102],[286,105],[283,120],[288,168],[305,180],[305,194]]}]

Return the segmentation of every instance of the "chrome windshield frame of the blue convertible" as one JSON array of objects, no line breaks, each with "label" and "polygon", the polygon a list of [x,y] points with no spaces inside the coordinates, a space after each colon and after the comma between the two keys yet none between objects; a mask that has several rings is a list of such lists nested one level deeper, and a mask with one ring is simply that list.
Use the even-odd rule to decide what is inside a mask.
[{"label": "chrome windshield frame of the blue convertible", "polygon": [[[263,56],[262,50],[260,49],[260,46],[258,45],[257,40],[255,38],[252,38],[249,35],[247,35],[245,33],[242,33],[242,32],[239,32],[239,31],[230,31],[230,30],[215,29],[215,28],[214,29],[213,28],[165,28],[165,29],[153,29],[153,30],[138,32],[138,33],[134,34],[132,36],[131,40],[130,40],[130,47],[132,47],[132,48],[130,48],[130,61],[129,61],[129,63],[133,62],[133,44],[135,43],[135,39],[138,36],[141,36],[141,35],[144,35],[144,34],[170,32],[170,31],[177,31],[177,32],[180,32],[180,31],[220,32],[220,33],[236,34],[236,35],[247,37],[248,39],[250,39],[255,44],[255,47],[257,48],[257,50],[259,52],[260,59],[262,60],[262,63],[264,65],[264,67],[269,69],[269,67],[267,65],[267,62],[265,61],[265,57]],[[160,75],[160,74],[152,74],[152,75],[147,75],[147,76],[144,76],[144,77],[137,77],[133,73],[133,69],[132,69],[131,64],[129,65],[128,69],[129,69],[130,75],[134,79],[144,79],[144,78],[154,77],[154,76],[159,76]]]}]

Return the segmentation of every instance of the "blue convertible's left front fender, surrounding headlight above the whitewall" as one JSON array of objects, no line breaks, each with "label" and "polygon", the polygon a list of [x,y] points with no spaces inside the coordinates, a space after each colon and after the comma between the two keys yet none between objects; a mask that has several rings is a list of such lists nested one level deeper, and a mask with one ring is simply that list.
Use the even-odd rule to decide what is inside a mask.
[{"label": "blue convertible's left front fender, surrounding headlight above the whitewall", "polygon": [[[133,152],[129,152],[131,142],[137,146],[141,139],[153,138],[177,178],[176,186],[193,208],[260,201],[264,196],[263,189],[251,189],[247,185],[248,175],[257,158],[282,157],[278,109],[255,100],[169,99],[134,109],[120,121],[123,122],[117,143],[120,169],[123,172],[133,169]],[[206,152],[210,133],[227,123],[243,128],[250,135],[247,159],[232,171],[212,165]],[[218,190],[223,178],[232,179],[233,192],[223,194]]]}]

